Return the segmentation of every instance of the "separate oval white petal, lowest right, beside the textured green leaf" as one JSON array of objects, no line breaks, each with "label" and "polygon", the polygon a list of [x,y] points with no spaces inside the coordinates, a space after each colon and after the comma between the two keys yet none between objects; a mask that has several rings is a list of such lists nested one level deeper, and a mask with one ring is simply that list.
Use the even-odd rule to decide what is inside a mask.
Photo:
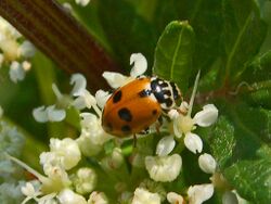
[{"label": "separate oval white petal, lowest right, beside the textured green leaf", "polygon": [[198,165],[201,169],[207,174],[214,174],[217,167],[215,158],[207,153],[204,153],[198,157]]}]

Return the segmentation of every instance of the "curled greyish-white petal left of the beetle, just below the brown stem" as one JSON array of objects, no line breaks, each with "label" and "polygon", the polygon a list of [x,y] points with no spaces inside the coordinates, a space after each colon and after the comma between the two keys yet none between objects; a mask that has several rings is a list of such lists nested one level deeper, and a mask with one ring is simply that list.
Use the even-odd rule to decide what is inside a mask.
[{"label": "curled greyish-white petal left of the beetle, just below the brown stem", "polygon": [[72,94],[74,97],[79,97],[83,94],[86,88],[87,88],[87,79],[81,74],[74,74],[70,78],[70,85],[74,85],[74,88],[72,90]]}]

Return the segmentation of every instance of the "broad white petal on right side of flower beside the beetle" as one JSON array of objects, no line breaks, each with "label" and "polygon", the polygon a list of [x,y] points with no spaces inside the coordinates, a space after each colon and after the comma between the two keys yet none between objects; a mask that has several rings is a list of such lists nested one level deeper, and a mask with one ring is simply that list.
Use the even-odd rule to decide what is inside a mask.
[{"label": "broad white petal on right side of flower beside the beetle", "polygon": [[194,116],[194,122],[201,127],[208,127],[214,124],[218,118],[218,109],[214,104],[208,104],[203,107],[203,111],[198,112]]}]

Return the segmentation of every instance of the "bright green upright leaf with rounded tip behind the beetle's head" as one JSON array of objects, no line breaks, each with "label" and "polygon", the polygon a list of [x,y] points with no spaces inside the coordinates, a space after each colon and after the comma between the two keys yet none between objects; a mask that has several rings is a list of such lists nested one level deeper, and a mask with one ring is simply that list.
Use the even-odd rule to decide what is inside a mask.
[{"label": "bright green upright leaf with rounded tip behind the beetle's head", "polygon": [[192,71],[194,31],[188,22],[171,22],[155,49],[153,73],[176,82],[185,92]]}]

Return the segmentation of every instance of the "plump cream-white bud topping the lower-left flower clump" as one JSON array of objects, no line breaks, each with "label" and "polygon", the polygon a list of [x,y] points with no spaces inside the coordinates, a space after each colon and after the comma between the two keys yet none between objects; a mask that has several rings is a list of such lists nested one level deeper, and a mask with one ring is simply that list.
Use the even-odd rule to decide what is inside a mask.
[{"label": "plump cream-white bud topping the lower-left flower clump", "polygon": [[63,140],[50,139],[50,150],[63,161],[66,170],[75,167],[81,160],[81,152],[77,142],[70,138]]}]

